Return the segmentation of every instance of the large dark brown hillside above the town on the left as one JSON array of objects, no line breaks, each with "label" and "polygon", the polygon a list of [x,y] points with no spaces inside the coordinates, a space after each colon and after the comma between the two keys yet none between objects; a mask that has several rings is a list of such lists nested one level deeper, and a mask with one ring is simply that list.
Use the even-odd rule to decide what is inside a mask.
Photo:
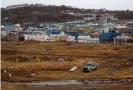
[{"label": "large dark brown hillside above the town on the left", "polygon": [[63,22],[75,19],[82,19],[80,16],[72,16],[68,14],[62,13],[62,11],[71,10],[74,12],[78,12],[79,9],[71,8],[66,6],[46,6],[46,7],[38,7],[38,6],[27,6],[22,8],[4,10],[2,9],[2,19],[8,17],[9,22],[12,23],[23,23],[28,21],[34,22]]}]

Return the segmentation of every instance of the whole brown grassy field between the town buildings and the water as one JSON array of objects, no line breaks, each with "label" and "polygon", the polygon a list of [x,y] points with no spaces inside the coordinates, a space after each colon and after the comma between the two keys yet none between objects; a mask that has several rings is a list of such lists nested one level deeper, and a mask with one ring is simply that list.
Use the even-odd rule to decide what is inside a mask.
[{"label": "whole brown grassy field between the town buildings and the water", "polygon": [[[2,42],[1,54],[1,68],[8,71],[2,72],[4,81],[133,78],[133,43],[114,45]],[[58,58],[63,58],[64,61],[58,62]],[[82,68],[89,61],[98,62],[99,70],[83,73]],[[78,66],[78,69],[70,72],[73,66]],[[12,77],[8,76],[9,73]],[[32,73],[35,76],[26,77]]]}]

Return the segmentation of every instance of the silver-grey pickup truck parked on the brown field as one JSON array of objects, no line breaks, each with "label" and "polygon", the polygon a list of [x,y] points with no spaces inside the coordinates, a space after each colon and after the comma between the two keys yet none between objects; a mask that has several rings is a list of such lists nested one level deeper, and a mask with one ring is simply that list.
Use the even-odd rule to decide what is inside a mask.
[{"label": "silver-grey pickup truck parked on the brown field", "polygon": [[88,62],[83,67],[83,72],[91,72],[92,70],[97,70],[99,68],[99,64],[96,62]]}]

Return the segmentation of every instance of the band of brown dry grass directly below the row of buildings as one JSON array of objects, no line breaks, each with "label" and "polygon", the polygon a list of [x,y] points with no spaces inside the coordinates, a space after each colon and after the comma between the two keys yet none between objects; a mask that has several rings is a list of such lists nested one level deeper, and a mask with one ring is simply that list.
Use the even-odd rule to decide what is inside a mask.
[{"label": "band of brown dry grass directly below the row of buildings", "polygon": [[[25,42],[28,42],[25,44]],[[2,42],[2,59],[6,60],[7,57],[12,56],[25,56],[29,58],[33,57],[43,57],[45,54],[54,57],[56,55],[67,55],[72,57],[84,57],[84,56],[94,56],[94,57],[113,57],[113,56],[128,56],[133,53],[133,45],[121,46],[121,45],[111,45],[111,44],[72,44],[67,45],[65,43],[30,43],[25,41],[17,44],[16,42],[7,43]],[[6,50],[3,51],[3,50]],[[9,53],[11,54],[9,56]],[[50,55],[51,54],[51,55]],[[54,56],[53,56],[54,55]],[[82,58],[83,58],[82,57]],[[52,58],[54,60],[54,58]]]}]

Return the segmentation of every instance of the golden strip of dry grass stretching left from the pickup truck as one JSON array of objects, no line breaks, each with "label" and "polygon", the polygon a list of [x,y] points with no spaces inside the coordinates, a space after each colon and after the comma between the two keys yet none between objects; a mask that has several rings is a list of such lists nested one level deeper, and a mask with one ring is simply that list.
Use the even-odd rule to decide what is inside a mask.
[{"label": "golden strip of dry grass stretching left from the pickup truck", "polygon": [[69,70],[73,66],[82,67],[88,61],[93,61],[92,59],[78,59],[72,62],[57,62],[57,61],[37,61],[37,62],[8,62],[2,60],[2,69],[6,68],[13,71],[18,70]]}]

